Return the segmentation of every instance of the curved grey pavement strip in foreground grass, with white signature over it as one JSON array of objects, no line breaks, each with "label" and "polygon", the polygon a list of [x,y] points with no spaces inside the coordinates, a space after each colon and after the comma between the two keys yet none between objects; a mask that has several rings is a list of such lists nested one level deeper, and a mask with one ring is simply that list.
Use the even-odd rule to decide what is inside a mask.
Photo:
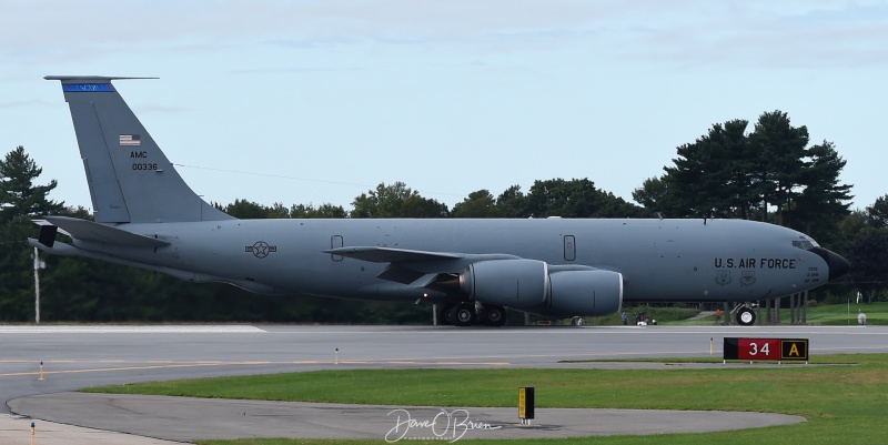
[{"label": "curved grey pavement strip in foreground grass, with white signature over it", "polygon": [[[543,438],[705,433],[804,422],[737,412],[537,408],[529,426],[516,408],[415,407],[59,393],[10,401],[33,418],[170,441],[240,437]],[[138,419],[138,422],[133,422]]]}]

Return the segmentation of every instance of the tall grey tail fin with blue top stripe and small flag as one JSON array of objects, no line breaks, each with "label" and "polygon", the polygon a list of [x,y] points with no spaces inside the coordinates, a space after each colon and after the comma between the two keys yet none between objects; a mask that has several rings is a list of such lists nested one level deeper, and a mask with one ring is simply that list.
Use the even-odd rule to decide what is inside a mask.
[{"label": "tall grey tail fin with blue top stripe and small flag", "polygon": [[115,79],[138,78],[47,75],[44,79],[62,82],[97,222],[232,219],[185,184],[111,84]]}]

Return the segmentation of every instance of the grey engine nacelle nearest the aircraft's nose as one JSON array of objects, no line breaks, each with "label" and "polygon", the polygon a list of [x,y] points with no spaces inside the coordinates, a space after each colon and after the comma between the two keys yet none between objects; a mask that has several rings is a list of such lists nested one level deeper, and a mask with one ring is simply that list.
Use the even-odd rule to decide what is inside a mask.
[{"label": "grey engine nacelle nearest the aircraft's nose", "polygon": [[609,315],[623,306],[623,274],[613,271],[564,271],[549,275],[548,309],[567,316]]}]

